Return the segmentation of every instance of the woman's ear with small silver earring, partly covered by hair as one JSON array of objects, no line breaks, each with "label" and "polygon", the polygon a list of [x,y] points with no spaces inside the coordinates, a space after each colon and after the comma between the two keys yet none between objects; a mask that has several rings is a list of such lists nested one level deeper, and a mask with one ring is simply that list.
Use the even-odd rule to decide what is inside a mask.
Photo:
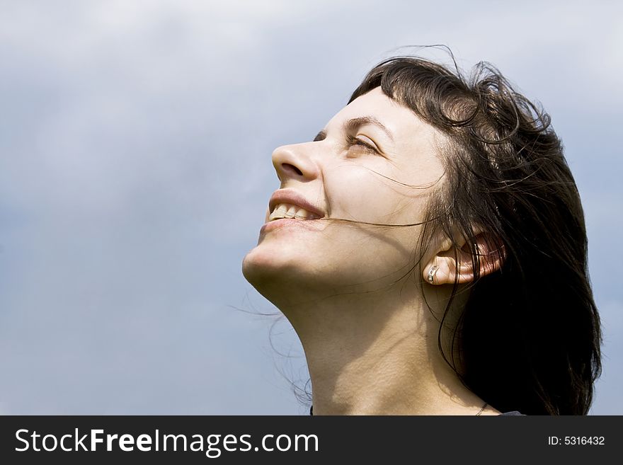
[{"label": "woman's ear with small silver earring, partly covered by hair", "polygon": [[[474,248],[472,248],[472,244]],[[471,239],[462,237],[440,244],[440,250],[429,260],[423,270],[424,282],[430,285],[464,284],[474,281],[471,257],[476,253],[480,276],[486,276],[502,268],[504,246],[491,234],[479,232]]]}]

